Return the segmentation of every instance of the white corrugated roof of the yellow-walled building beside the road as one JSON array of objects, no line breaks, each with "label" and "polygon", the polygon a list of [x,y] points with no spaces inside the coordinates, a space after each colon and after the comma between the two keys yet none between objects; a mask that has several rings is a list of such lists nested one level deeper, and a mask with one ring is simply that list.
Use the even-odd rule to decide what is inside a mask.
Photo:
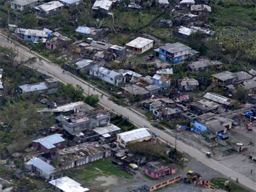
[{"label": "white corrugated roof of the yellow-walled building beside the road", "polygon": [[152,136],[148,128],[134,129],[132,131],[122,132],[117,135],[119,135],[120,138],[125,142],[139,140],[140,138]]}]

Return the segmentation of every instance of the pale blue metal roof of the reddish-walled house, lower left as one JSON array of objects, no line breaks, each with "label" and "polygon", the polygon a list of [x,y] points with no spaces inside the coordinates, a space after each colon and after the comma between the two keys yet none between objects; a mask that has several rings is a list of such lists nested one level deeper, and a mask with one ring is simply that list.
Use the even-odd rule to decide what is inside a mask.
[{"label": "pale blue metal roof of the reddish-walled house, lower left", "polygon": [[64,138],[61,137],[61,134],[49,135],[47,137],[39,138],[34,140],[35,143],[40,143],[42,146],[46,147],[46,149],[55,148],[54,144],[65,141]]}]

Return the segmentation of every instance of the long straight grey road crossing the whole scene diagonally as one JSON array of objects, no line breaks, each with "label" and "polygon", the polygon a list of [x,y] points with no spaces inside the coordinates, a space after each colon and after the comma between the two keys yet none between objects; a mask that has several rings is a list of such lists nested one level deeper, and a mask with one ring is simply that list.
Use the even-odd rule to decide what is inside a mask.
[{"label": "long straight grey road crossing the whole scene diagonally", "polygon": [[[30,52],[28,48],[25,48],[24,46],[17,45],[16,43],[10,43],[8,42],[2,34],[0,34],[0,45],[8,48],[15,48],[19,55],[21,55],[21,58],[28,59],[32,57],[40,57],[40,55]],[[42,58],[42,57],[41,57]],[[51,61],[46,60],[43,58],[42,60],[37,60],[37,62],[34,63],[34,67],[36,67],[37,70],[39,70],[42,73],[46,73],[47,75],[54,76],[55,78],[58,78],[61,82],[73,84],[73,85],[81,85],[84,89],[84,94],[88,94],[90,90],[90,94],[102,94],[102,91],[96,89],[93,90],[92,87],[89,88],[87,82],[83,81],[80,78],[77,78],[76,76],[70,74],[70,73],[63,73],[63,69],[59,67],[57,64],[51,63]],[[131,122],[133,122],[135,125],[139,127],[147,127],[151,129],[152,132],[155,132],[155,134],[158,134],[160,138],[163,140],[166,140],[168,143],[174,143],[175,138],[170,136],[169,134],[166,134],[166,132],[163,132],[154,126],[151,125],[151,123],[145,119],[142,116],[139,116],[137,113],[134,113],[134,111],[131,111],[129,108],[119,106],[117,104],[114,104],[114,102],[110,101],[108,99],[108,96],[105,94],[102,98],[100,98],[100,104],[104,107],[108,108],[109,110],[113,110],[115,113],[122,114],[122,116],[129,117]],[[183,143],[182,141],[177,141],[177,147],[181,151],[184,151],[185,153],[189,154],[190,156],[193,156],[198,161],[201,161],[201,163],[207,165],[208,167],[211,167],[212,169],[216,170],[217,172],[222,173],[222,175],[225,175],[228,178],[231,178],[233,180],[236,180],[236,178],[239,178],[240,184],[245,185],[246,187],[250,188],[252,191],[255,191],[256,184],[254,181],[252,181],[249,178],[246,178],[246,176],[241,175],[240,173],[237,173],[236,170],[231,170],[228,167],[224,166],[220,161],[216,161],[214,159],[209,159],[205,156],[204,153],[202,153],[200,150],[193,148],[192,146],[189,146],[188,144]]]}]

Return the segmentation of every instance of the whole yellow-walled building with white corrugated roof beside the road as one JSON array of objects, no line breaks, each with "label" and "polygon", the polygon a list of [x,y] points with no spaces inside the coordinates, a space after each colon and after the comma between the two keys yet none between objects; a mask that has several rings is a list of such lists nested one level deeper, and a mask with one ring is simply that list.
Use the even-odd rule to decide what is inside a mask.
[{"label": "whole yellow-walled building with white corrugated roof beside the road", "polygon": [[148,141],[151,138],[152,134],[148,128],[140,128],[117,134],[116,141],[120,146],[125,147],[126,144]]}]

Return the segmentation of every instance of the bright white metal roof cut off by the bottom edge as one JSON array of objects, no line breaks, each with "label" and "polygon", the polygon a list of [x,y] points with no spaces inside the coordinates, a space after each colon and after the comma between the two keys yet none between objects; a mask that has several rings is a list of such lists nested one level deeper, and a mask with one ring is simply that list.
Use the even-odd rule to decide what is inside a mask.
[{"label": "bright white metal roof cut off by the bottom edge", "polygon": [[54,185],[54,187],[59,188],[61,191],[64,192],[85,192],[89,191],[89,188],[81,187],[81,184],[70,179],[67,176],[63,178],[58,178],[52,181],[49,181],[49,184]]}]

